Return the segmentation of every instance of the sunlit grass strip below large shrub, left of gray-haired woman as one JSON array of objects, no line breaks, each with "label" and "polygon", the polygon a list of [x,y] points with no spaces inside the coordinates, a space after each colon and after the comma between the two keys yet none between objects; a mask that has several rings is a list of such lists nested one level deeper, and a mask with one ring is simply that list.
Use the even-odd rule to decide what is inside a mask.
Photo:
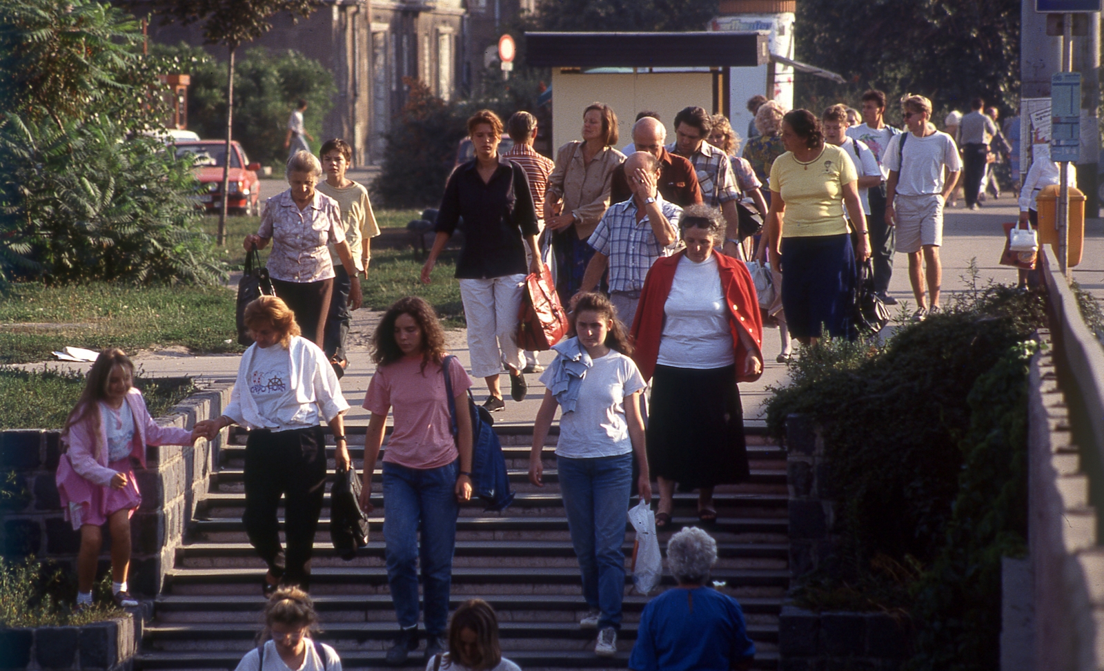
[{"label": "sunlit grass strip below large shrub, left of gray-haired woman", "polygon": [[240,352],[235,338],[234,295],[222,287],[24,283],[0,298],[0,363],[49,360],[65,345]]}]

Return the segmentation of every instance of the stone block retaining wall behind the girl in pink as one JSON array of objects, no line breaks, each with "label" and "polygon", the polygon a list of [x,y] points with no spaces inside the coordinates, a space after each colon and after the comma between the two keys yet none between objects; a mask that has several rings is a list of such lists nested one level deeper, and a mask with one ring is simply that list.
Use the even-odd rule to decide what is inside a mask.
[{"label": "stone block retaining wall behind the girl in pink", "polygon": [[[188,428],[202,419],[217,417],[230,402],[233,381],[199,386],[198,393],[158,418],[158,424]],[[147,467],[135,471],[142,502],[130,520],[132,593],[152,597],[159,592],[183,541],[184,525],[192,518],[197,501],[206,493],[209,476],[227,436],[229,432],[223,429],[215,440],[200,439],[195,446],[146,448]],[[54,484],[61,454],[56,429],[0,432],[0,475],[14,471],[15,489],[21,490],[18,496],[0,501],[0,547],[9,560],[34,555],[72,575],[81,539],[65,521]],[[109,563],[109,535],[105,530],[108,540],[100,560],[105,565]]]}]

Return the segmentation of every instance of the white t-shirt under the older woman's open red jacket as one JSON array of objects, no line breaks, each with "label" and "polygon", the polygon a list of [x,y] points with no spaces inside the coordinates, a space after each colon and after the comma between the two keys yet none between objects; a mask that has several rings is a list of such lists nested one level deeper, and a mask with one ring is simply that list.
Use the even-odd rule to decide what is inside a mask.
[{"label": "white t-shirt under the older woman's open red jacket", "polygon": [[[701,263],[683,256],[664,305],[664,334],[656,363],[709,370],[732,365],[732,315],[721,291],[716,255]],[[561,429],[562,430],[562,429]]]}]

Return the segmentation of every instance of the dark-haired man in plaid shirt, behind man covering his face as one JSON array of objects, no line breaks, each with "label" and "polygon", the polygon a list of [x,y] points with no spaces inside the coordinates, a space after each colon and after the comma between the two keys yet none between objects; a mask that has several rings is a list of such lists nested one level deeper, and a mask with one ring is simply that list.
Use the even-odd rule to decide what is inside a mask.
[{"label": "dark-haired man in plaid shirt, behind man covering his face", "polygon": [[711,207],[720,207],[724,216],[723,251],[740,258],[740,214],[736,212],[740,191],[736,190],[728,155],[705,141],[712,129],[713,121],[708,111],[701,107],[684,107],[675,115],[676,140],[667,146],[667,150],[693,163],[702,201]]}]

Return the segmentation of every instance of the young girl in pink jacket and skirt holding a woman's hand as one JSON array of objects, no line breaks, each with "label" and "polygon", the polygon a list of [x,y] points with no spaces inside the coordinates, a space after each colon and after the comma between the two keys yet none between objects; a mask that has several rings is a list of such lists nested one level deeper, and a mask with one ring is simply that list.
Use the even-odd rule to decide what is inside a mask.
[{"label": "young girl in pink jacket and skirt holding a woman's hand", "polygon": [[112,532],[115,604],[123,608],[138,605],[127,592],[130,515],[141,503],[134,464],[146,466],[147,445],[191,445],[205,437],[195,430],[158,426],[141,392],[130,385],[134,370],[123,350],[100,352],[62,432],[66,452],[57,465],[57,492],[66,518],[81,532],[77,608],[92,605],[104,524]]}]

